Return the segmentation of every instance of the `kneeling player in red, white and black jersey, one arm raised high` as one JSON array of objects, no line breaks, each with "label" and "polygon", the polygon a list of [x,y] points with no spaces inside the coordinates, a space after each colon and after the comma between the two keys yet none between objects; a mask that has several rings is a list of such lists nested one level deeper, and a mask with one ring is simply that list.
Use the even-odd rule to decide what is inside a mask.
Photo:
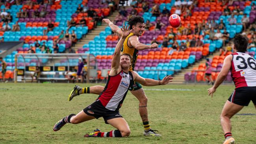
[{"label": "kneeling player in red, white and black jersey, one arm raised high", "polygon": [[161,81],[154,79],[145,79],[140,77],[136,72],[129,70],[132,65],[132,57],[129,54],[121,55],[121,48],[125,38],[130,34],[129,27],[123,26],[122,36],[113,54],[111,70],[108,76],[108,82],[98,96],[95,102],[80,111],[78,114],[70,114],[59,120],[53,127],[58,131],[67,123],[79,124],[88,120],[103,117],[106,124],[117,128],[109,132],[101,132],[96,129],[93,133],[87,133],[85,137],[128,137],[130,128],[119,113],[119,108],[131,87],[133,81],[137,81],[145,86],[166,85],[173,79],[171,76],[163,78]]}]

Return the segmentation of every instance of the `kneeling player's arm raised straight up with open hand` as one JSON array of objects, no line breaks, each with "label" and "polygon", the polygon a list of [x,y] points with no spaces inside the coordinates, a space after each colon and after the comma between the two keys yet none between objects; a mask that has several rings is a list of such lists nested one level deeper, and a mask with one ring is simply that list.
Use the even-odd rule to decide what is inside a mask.
[{"label": "kneeling player's arm raised straight up with open hand", "polygon": [[[121,29],[122,31],[122,36],[119,40],[119,42],[117,43],[117,46],[115,47],[115,52],[113,54],[113,59],[111,62],[111,75],[115,75],[119,72],[119,70],[121,69],[121,65],[120,65],[120,53],[121,53],[121,49],[122,49],[122,45],[124,43],[125,38],[130,34],[129,31],[130,26],[127,28],[123,26],[123,29]],[[109,74],[110,74],[109,73]]]}]

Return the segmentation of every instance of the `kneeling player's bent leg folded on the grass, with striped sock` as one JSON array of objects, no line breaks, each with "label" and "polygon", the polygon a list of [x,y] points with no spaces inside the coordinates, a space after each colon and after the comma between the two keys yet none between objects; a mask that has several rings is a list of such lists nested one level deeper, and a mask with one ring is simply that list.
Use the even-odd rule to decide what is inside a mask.
[{"label": "kneeling player's bent leg folded on the grass, with striped sock", "polygon": [[93,133],[87,133],[84,137],[128,137],[130,135],[130,127],[124,118],[112,118],[107,122],[117,129],[109,132],[101,132],[96,129]]}]

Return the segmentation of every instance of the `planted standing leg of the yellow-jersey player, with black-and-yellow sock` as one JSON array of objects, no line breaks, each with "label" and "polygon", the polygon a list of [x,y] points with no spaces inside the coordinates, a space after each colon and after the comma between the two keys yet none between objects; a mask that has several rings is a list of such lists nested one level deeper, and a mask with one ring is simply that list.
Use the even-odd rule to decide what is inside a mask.
[{"label": "planted standing leg of the yellow-jersey player, with black-and-yellow sock", "polygon": [[145,136],[161,136],[160,134],[156,133],[156,130],[152,130],[149,122],[148,122],[148,110],[147,110],[147,102],[148,98],[143,90],[140,88],[138,90],[131,91],[132,94],[139,100],[139,114],[141,116],[141,120],[144,126],[144,135]]}]

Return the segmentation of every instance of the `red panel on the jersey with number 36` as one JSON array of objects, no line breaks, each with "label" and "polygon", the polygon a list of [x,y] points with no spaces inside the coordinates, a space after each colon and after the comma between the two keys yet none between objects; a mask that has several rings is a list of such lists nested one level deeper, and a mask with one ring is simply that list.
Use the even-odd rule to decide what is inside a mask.
[{"label": "red panel on the jersey with number 36", "polygon": [[[233,53],[233,55],[238,55],[238,54],[237,53]],[[233,78],[233,81],[235,83],[236,88],[247,87],[247,83],[245,81],[245,77],[241,76],[241,73],[240,73],[243,70],[236,71],[233,59],[232,59],[232,62],[231,62],[231,69],[232,69],[231,70],[231,76]]]}]

